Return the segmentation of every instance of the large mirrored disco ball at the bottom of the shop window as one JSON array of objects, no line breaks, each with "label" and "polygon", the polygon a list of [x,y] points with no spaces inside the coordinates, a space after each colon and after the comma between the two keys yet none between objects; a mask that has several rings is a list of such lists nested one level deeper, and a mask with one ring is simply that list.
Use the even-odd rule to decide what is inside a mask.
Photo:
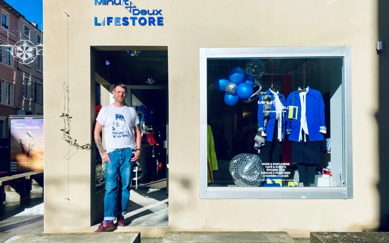
[{"label": "large mirrored disco ball at the bottom of the shop window", "polygon": [[239,154],[230,162],[230,174],[238,187],[259,187],[265,180],[265,167],[259,156]]}]

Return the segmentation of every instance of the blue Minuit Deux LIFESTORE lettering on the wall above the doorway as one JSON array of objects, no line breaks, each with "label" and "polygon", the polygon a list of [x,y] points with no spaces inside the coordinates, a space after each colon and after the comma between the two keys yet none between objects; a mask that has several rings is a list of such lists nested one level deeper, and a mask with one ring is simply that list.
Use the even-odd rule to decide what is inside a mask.
[{"label": "blue Minuit Deux LIFESTORE lettering on the wall above the doorway", "polygon": [[[124,6],[132,15],[130,17],[94,17],[95,26],[163,26],[162,9],[138,9],[130,0],[94,0],[94,5],[120,5]],[[142,17],[145,16],[145,17]]]}]

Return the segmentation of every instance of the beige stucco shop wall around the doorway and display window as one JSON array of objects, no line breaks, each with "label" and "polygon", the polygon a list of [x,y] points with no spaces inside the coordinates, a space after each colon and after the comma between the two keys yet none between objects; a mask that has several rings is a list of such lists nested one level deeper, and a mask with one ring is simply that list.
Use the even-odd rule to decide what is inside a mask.
[{"label": "beige stucco shop wall around the doorway and display window", "polygon": [[[61,140],[67,21],[71,134],[80,143],[91,141],[94,117],[90,46],[169,48],[169,227],[118,231],[161,236],[168,230],[282,230],[308,236],[310,231],[358,231],[378,222],[376,0],[133,1],[141,9],[162,9],[163,27],[94,26],[95,16],[124,17],[126,11],[123,6],[94,6],[93,2],[44,0],[44,109],[50,114],[45,120],[45,232],[94,230],[89,227],[94,180],[90,153],[78,151],[67,161],[69,147]],[[200,200],[199,48],[342,45],[353,48],[353,97],[371,97],[353,99],[354,199]],[[368,112],[359,116],[358,110]]]}]

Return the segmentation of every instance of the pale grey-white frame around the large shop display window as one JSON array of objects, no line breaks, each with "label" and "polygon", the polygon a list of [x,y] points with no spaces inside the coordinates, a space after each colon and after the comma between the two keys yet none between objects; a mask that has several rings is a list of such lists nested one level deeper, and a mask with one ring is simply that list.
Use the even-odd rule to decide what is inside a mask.
[{"label": "pale grey-white frame around the large shop display window", "polygon": [[[351,47],[200,48],[200,198],[201,199],[351,199],[353,198],[353,146]],[[207,59],[210,58],[320,58],[343,57],[343,161],[344,187],[208,187],[207,183]]]}]

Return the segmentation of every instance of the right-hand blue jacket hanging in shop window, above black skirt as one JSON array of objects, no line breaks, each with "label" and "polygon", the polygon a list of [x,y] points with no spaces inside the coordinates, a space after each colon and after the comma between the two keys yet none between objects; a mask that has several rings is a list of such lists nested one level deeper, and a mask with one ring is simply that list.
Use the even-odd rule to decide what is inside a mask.
[{"label": "right-hand blue jacket hanging in shop window, above black skirt", "polygon": [[[298,90],[293,91],[288,95],[286,99],[287,115],[288,118],[292,115],[297,119],[287,119],[286,132],[289,134],[289,140],[299,141],[300,128],[301,128],[301,101]],[[297,106],[297,117],[296,109],[291,106]],[[324,124],[324,101],[320,91],[309,88],[306,94],[306,106],[305,106],[305,117],[308,126],[309,140],[320,141],[324,139],[321,132],[327,130]],[[292,113],[289,115],[289,113]],[[321,132],[320,132],[321,131]]]}]

